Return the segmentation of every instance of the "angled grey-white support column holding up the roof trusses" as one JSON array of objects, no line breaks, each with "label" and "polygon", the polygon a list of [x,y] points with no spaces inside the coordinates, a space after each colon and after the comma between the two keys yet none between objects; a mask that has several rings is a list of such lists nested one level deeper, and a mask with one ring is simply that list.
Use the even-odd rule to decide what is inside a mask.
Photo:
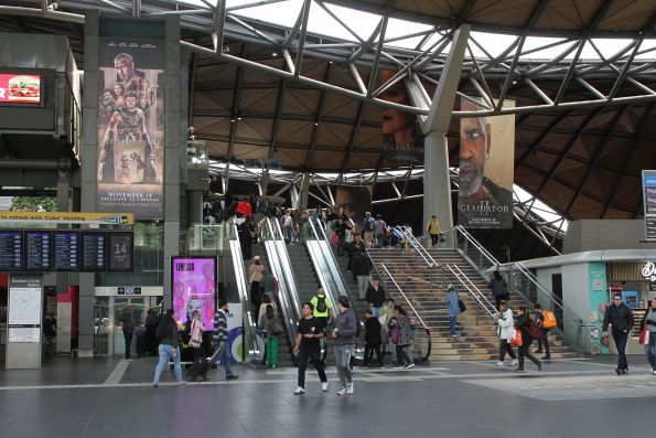
[{"label": "angled grey-white support column holding up the roof trusses", "polygon": [[453,34],[451,50],[440,82],[433,96],[428,116],[421,125],[426,138],[423,141],[423,223],[430,216],[438,216],[442,228],[453,226],[451,207],[451,181],[449,178],[449,145],[447,132],[451,122],[451,113],[455,103],[455,93],[460,82],[462,63],[467,47],[471,26],[462,24]]}]

